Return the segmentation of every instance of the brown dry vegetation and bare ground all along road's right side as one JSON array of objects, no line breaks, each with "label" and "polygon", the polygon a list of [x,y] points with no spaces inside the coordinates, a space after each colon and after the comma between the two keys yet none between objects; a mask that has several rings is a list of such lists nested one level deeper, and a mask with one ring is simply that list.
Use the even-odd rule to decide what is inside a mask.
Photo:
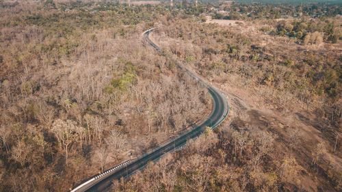
[{"label": "brown dry vegetation and bare ground all along road's right side", "polygon": [[248,28],[254,37],[243,27],[187,19],[155,30],[157,44],[226,91],[231,112],[217,135],[190,142],[113,191],[341,190],[341,150],[334,149],[339,52],[306,50],[281,37],[263,42],[263,33]]}]

